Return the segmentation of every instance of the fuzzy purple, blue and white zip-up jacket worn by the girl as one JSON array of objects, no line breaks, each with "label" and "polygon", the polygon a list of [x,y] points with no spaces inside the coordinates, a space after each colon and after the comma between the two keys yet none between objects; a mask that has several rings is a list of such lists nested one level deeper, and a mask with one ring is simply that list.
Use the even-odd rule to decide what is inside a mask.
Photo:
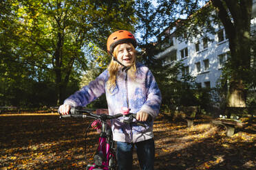
[{"label": "fuzzy purple, blue and white zip-up jacket worn by the girl", "polygon": [[[133,113],[147,112],[153,119],[158,116],[162,99],[161,93],[147,66],[136,64],[135,79],[131,79],[127,76],[126,71],[120,69],[116,75],[116,87],[110,92],[107,90],[108,79],[109,72],[105,70],[94,81],[65,99],[64,104],[86,106],[105,93],[109,115],[118,114],[120,108],[127,107]],[[136,143],[153,138],[153,121],[142,123],[145,123],[146,127],[127,125],[118,119],[113,119],[111,129],[114,141]]]}]

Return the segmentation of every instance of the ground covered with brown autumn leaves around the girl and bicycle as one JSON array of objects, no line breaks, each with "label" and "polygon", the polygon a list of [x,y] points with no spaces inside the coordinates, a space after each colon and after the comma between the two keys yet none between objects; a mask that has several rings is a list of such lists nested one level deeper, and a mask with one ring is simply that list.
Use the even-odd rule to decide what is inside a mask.
[{"label": "ground covered with brown autumn leaves around the girl and bicycle", "polygon": [[[85,169],[92,162],[98,134],[87,134],[88,120],[58,119],[57,114],[1,114],[0,169]],[[250,127],[231,138],[224,128],[200,119],[154,123],[155,169],[256,169],[256,135]],[[134,169],[139,169],[134,152]]]}]

